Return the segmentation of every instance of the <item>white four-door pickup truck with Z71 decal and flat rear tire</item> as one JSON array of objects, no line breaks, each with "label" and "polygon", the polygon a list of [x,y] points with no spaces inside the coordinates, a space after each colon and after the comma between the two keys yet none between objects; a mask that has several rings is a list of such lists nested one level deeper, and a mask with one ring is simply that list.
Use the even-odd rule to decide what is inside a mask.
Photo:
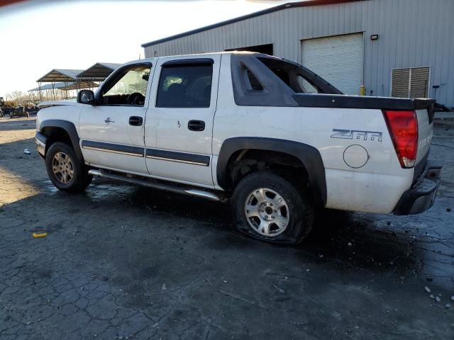
[{"label": "white four-door pickup truck with Z71 decal and flat rear tire", "polygon": [[409,215],[433,205],[433,103],[346,96],[259,53],[155,57],[77,102],[41,103],[36,146],[60,190],[99,176],[231,198],[240,232],[294,244],[318,207]]}]

